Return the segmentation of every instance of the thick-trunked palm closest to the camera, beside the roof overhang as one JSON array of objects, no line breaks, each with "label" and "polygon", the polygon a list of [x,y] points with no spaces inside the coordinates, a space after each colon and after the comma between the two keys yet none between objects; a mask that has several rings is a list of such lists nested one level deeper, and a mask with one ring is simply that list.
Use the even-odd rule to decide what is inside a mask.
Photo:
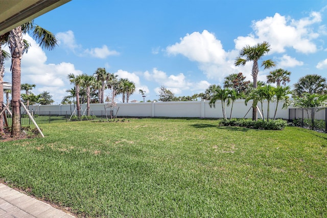
[{"label": "thick-trunked palm closest to the camera, beside the roof overhang", "polygon": [[57,45],[57,39],[54,34],[34,25],[33,20],[9,32],[9,49],[12,58],[12,137],[17,137],[20,134],[20,62],[22,55],[26,51],[26,43],[22,39],[22,36],[30,31],[32,31],[32,36],[42,48],[52,50]]}]

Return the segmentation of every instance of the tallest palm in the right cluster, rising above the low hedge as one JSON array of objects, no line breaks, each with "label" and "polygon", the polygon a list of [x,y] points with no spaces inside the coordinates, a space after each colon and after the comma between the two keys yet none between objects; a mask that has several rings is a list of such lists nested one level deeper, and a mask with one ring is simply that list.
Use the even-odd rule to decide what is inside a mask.
[{"label": "tallest palm in the right cluster, rising above the low hedge", "polygon": [[[243,47],[243,49],[240,52],[240,55],[235,60],[236,66],[240,66],[240,65],[244,66],[248,61],[253,61],[252,71],[251,71],[252,78],[253,78],[253,88],[257,87],[256,80],[257,80],[258,74],[259,74],[258,61],[260,59],[262,59],[262,57],[265,54],[268,54],[269,51],[270,51],[270,45],[268,42],[265,42],[265,41],[262,43],[258,43],[254,46],[246,45],[245,47]],[[275,63],[271,59],[268,59],[268,60],[262,61],[261,66],[263,66],[264,69],[269,69],[269,68],[275,66]],[[258,120],[258,114],[256,111],[256,107],[253,107],[252,119]]]}]

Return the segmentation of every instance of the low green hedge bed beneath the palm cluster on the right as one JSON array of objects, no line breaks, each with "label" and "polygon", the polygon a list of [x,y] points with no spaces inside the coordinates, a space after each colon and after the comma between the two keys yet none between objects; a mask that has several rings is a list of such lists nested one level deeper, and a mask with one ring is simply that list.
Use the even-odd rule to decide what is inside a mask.
[{"label": "low green hedge bed beneath the palm cluster on the right", "polygon": [[262,130],[283,130],[287,126],[286,120],[283,119],[270,119],[269,121],[258,119],[254,121],[252,119],[221,119],[219,122],[220,126],[228,127],[247,127],[253,129]]}]

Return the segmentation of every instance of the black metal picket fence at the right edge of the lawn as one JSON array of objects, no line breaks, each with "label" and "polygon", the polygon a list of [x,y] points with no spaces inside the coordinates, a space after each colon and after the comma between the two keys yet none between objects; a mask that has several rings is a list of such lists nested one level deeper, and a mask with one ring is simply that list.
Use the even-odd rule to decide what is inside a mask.
[{"label": "black metal picket fence at the right edge of the lawn", "polygon": [[289,120],[295,126],[327,133],[327,108],[290,108]]}]

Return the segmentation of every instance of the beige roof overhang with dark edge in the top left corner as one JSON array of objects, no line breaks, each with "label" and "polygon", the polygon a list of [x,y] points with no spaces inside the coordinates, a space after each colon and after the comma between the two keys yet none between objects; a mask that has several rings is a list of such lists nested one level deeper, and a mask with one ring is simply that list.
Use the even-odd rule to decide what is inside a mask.
[{"label": "beige roof overhang with dark edge in the top left corner", "polygon": [[71,0],[1,0],[0,35]]}]

